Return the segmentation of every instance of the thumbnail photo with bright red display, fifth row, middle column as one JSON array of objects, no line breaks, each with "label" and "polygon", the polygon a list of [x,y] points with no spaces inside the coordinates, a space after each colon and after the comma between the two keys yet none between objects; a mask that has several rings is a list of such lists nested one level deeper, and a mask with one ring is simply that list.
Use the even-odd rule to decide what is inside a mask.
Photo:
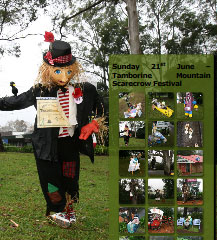
[{"label": "thumbnail photo with bright red display, fifth row, middle column", "polygon": [[[149,233],[173,233],[174,232],[174,208],[169,208],[169,207],[149,208],[148,209],[148,232]],[[160,239],[160,238],[157,238],[157,239]],[[161,239],[164,239],[164,238],[161,238]]]}]

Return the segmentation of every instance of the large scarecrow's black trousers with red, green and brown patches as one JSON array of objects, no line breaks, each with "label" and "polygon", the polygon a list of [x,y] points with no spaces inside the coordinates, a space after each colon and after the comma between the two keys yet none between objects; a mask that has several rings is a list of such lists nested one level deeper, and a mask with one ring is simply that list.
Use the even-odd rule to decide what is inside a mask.
[{"label": "large scarecrow's black trousers with red, green and brown patches", "polygon": [[65,194],[76,202],[79,198],[80,155],[78,136],[58,139],[58,162],[36,159],[39,180],[50,211],[61,212],[66,205]]}]

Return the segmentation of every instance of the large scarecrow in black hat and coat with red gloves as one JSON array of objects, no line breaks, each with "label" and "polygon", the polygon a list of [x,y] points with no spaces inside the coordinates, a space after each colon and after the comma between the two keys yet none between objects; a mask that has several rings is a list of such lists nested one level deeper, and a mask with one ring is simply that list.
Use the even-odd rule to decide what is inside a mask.
[{"label": "large scarecrow in black hat and coat with red gloves", "polygon": [[[36,83],[18,96],[0,99],[0,110],[13,111],[34,105],[38,97],[55,97],[69,127],[38,128],[35,122],[32,144],[39,180],[47,203],[46,216],[67,228],[76,221],[72,204],[79,199],[80,153],[94,162],[92,133],[102,125],[103,106],[96,88],[80,81],[81,65],[71,53],[67,42],[55,40],[45,33],[50,42],[43,54]],[[93,112],[97,113],[90,122]],[[52,214],[51,214],[52,212]]]}]

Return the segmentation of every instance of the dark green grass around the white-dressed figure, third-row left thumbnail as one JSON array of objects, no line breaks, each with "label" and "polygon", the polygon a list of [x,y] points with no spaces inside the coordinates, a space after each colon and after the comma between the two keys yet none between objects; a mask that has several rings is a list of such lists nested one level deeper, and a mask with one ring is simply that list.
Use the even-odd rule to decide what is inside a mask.
[{"label": "dark green grass around the white-dressed figure, third-row left thumbnail", "polygon": [[145,176],[145,159],[140,159],[140,170],[128,172],[130,158],[120,158],[119,160],[119,175],[121,177],[143,177]]}]

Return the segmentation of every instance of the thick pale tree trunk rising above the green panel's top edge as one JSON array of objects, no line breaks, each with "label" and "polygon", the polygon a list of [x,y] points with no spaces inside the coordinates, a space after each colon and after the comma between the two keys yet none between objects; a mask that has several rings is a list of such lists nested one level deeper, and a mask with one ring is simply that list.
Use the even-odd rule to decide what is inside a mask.
[{"label": "thick pale tree trunk rising above the green panel's top edge", "polygon": [[141,54],[139,41],[139,19],[136,0],[125,0],[128,13],[128,32],[131,54]]}]

